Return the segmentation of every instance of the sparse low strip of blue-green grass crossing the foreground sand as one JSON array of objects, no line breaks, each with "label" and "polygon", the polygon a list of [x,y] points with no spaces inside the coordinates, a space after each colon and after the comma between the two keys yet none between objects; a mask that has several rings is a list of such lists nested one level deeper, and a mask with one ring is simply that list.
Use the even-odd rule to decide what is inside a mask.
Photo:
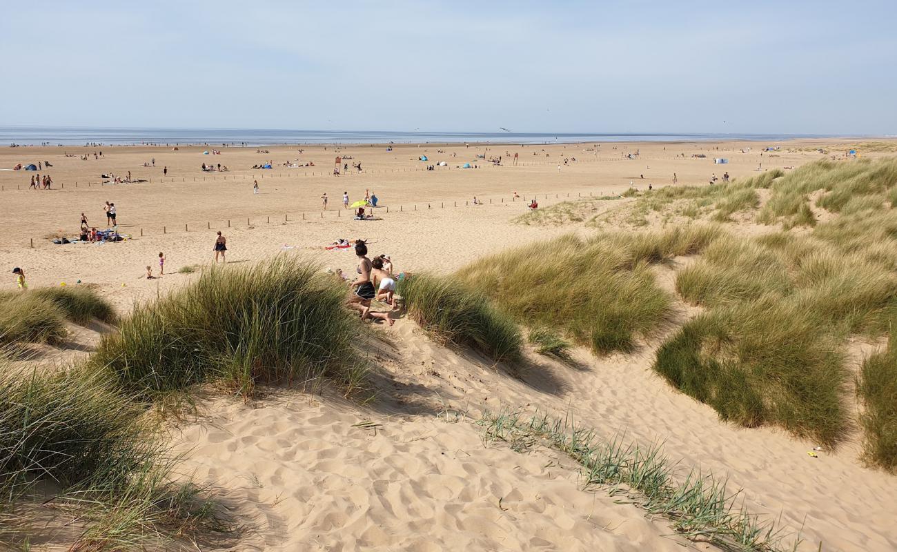
[{"label": "sparse low strip of blue-green grass crossing the foreground sand", "polygon": [[786,546],[788,534],[737,504],[741,491],[728,491],[725,479],[701,469],[683,476],[657,443],[626,443],[619,434],[606,441],[567,417],[539,413],[486,413],[480,425],[486,440],[507,442],[514,451],[544,445],[567,455],[579,464],[586,488],[623,493],[626,504],[665,517],[686,539],[745,552],[793,552],[800,543],[797,538]]}]

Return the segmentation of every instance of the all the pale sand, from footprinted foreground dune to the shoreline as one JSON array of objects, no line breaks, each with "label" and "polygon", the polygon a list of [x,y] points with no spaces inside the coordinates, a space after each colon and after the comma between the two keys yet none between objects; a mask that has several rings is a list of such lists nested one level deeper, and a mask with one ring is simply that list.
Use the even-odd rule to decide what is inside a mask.
[{"label": "all the pale sand, from footprinted foreground dune to the shoreline", "polygon": [[[126,315],[137,303],[195,281],[213,261],[218,231],[227,238],[229,264],[289,255],[353,272],[350,250],[325,249],[347,238],[364,239],[371,253],[390,255],[397,270],[449,273],[505,248],[595,232],[581,224],[513,223],[533,197],[542,208],[575,197],[616,196],[627,188],[703,185],[724,173],[744,179],[842,158],[857,143],[429,144],[393,145],[392,151],[386,145],[3,148],[0,168],[50,162],[38,172],[49,174],[53,186],[29,189],[34,172],[0,171],[0,266],[6,276],[0,287],[15,286],[7,267],[23,267],[32,287],[95,285]],[[763,151],[766,146],[779,149]],[[888,154],[861,150],[864,157]],[[424,155],[428,160],[420,161]],[[336,156],[340,176],[333,174]],[[501,164],[488,161],[500,156]],[[727,163],[714,164],[714,158]],[[270,170],[251,168],[267,161]],[[228,171],[202,171],[204,162]],[[359,162],[361,171],[353,170]],[[462,168],[465,163],[476,168]],[[436,166],[428,171],[428,165]],[[144,181],[100,178],[128,171],[132,180]],[[372,209],[377,220],[353,220],[342,206],[343,193],[355,201],[366,190],[379,198]],[[474,197],[484,205],[473,205]],[[52,242],[75,236],[82,213],[89,225],[105,228],[106,201],[117,207],[118,230],[129,239]],[[628,201],[599,208],[610,211]],[[755,231],[745,224],[745,232]],[[148,280],[145,267],[157,272],[160,252],[165,275]],[[538,255],[534,248],[534,262]],[[194,270],[179,273],[183,267]],[[673,289],[672,269],[659,267],[657,276]],[[402,318],[383,331],[388,341],[370,355],[387,377],[377,380],[370,404],[333,390],[318,395],[276,389],[250,403],[210,393],[200,401],[202,416],[172,429],[171,442],[186,457],[179,471],[216,489],[246,528],[237,542],[202,549],[715,549],[675,536],[667,521],[617,504],[605,492],[583,490],[573,463],[552,451],[519,454],[484,442],[475,421],[501,407],[569,415],[604,437],[624,432],[635,442],[663,442],[674,462],[728,478],[728,486],[743,489],[739,500],[751,512],[799,532],[805,543],[798,549],[897,549],[891,521],[897,479],[859,460],[858,437],[812,457],[807,451],[817,443],[771,426],[746,429],[719,421],[712,408],[651,372],[665,336],[641,342],[630,355],[598,358],[578,348],[580,370],[530,352],[527,358],[540,370],[518,379],[471,350],[435,343],[412,320]],[[99,338],[99,332],[84,330],[78,340],[90,349]],[[870,343],[852,347],[851,365],[873,350]],[[86,354],[73,349],[45,360]]]}]

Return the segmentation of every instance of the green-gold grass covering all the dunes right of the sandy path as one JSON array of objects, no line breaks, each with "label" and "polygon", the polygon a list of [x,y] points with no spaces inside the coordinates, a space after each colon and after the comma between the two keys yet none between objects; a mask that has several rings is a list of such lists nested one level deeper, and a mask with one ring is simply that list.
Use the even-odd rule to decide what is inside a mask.
[{"label": "green-gold grass covering all the dunes right of the sandy path", "polygon": [[[823,160],[787,173],[632,195],[634,202],[586,225],[643,226],[651,216],[660,223],[727,223],[740,213],[782,229],[745,237],[721,226],[685,251],[697,258],[678,271],[675,291],[701,313],[658,348],[654,369],[727,421],[779,425],[829,447],[842,442],[853,422],[848,338],[888,336],[897,320],[897,159]],[[564,204],[555,207],[576,208]],[[619,262],[620,250],[607,248],[631,250],[651,240],[646,236],[566,237],[481,259],[458,274],[530,325],[563,329],[589,343],[583,328],[591,324],[597,353],[631,350],[634,337],[663,324],[670,298],[645,264]],[[540,269],[527,270],[534,251]],[[658,256],[642,259],[657,262]],[[858,380],[866,456],[885,469],[893,469],[897,439],[893,386],[884,375],[893,366],[891,351],[870,357]]]}]

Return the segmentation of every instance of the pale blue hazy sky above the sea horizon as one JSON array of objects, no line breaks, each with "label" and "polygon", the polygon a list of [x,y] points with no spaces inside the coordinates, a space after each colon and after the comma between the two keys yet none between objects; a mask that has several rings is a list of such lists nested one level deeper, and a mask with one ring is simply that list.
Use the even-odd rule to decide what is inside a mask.
[{"label": "pale blue hazy sky above the sea horizon", "polygon": [[0,125],[897,134],[897,2],[14,2]]}]

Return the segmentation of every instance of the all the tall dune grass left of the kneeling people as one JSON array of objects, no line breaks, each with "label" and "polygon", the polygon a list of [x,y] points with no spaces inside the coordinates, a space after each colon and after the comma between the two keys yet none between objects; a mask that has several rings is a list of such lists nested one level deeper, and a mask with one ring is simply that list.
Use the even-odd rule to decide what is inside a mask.
[{"label": "all the tall dune grass left of the kneeling people", "polygon": [[[344,286],[317,266],[280,257],[205,271],[137,306],[82,364],[29,372],[0,355],[0,542],[27,547],[46,493],[77,513],[77,549],[143,549],[229,530],[205,491],[175,476],[179,459],[151,408],[163,403],[152,401],[206,381],[244,396],[260,382],[321,378],[357,390],[365,370],[352,341],[361,326],[344,299]],[[90,288],[0,302],[17,320],[18,333],[4,337],[13,345],[57,342],[66,320],[115,320]]]}]

